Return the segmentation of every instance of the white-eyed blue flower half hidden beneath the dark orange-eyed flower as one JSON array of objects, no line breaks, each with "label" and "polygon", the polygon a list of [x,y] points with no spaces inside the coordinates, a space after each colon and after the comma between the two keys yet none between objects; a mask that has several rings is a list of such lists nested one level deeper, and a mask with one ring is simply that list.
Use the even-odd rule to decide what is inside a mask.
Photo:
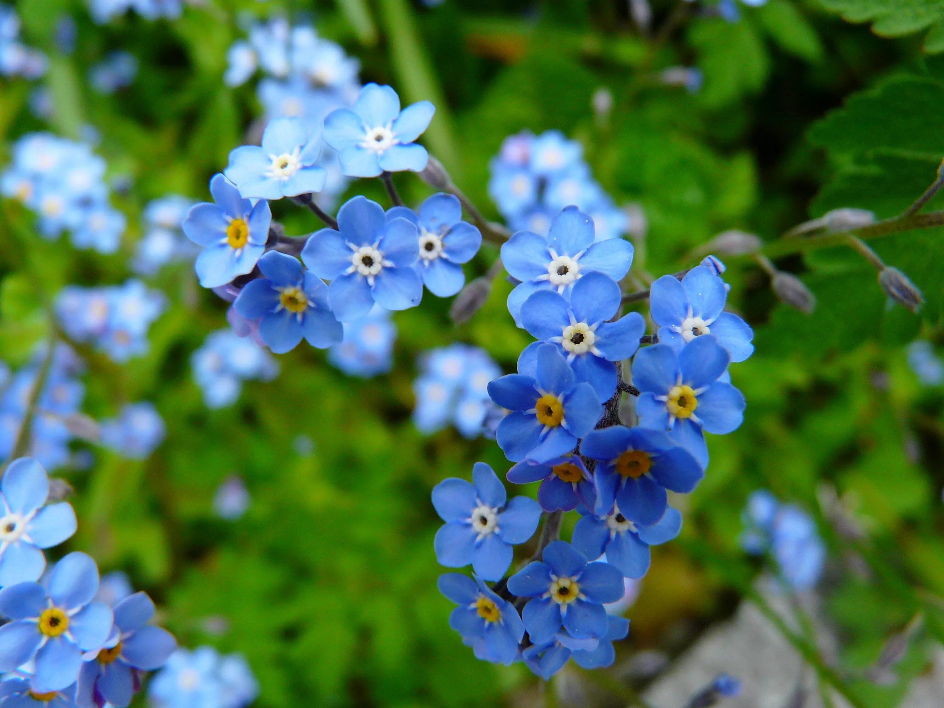
[{"label": "white-eyed blue flower half hidden beneath the dark orange-eyed flower", "polygon": [[571,543],[590,560],[606,553],[606,562],[625,578],[638,580],[649,570],[649,546],[671,541],[682,530],[682,514],[672,507],[654,524],[634,524],[619,512],[617,505],[609,514],[594,514],[579,509],[581,519],[574,527]]}]

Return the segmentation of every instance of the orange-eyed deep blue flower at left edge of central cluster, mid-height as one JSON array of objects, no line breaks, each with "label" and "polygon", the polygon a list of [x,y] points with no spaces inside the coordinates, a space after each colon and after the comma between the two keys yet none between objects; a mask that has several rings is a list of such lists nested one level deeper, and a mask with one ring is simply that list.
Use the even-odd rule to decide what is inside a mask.
[{"label": "orange-eyed deep blue flower at left edge of central cluster, mid-height", "polygon": [[577,447],[603,407],[589,383],[578,382],[554,345],[537,350],[534,376],[509,374],[488,384],[488,395],[512,411],[498,424],[497,443],[514,463],[547,463]]}]

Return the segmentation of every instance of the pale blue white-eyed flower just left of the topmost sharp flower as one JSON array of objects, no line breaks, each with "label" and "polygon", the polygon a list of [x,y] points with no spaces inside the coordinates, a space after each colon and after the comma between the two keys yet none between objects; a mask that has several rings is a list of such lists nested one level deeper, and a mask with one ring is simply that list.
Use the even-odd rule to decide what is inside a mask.
[{"label": "pale blue white-eyed flower just left of the topmost sharp flower", "polygon": [[315,164],[320,151],[319,136],[306,135],[300,119],[275,118],[265,126],[261,147],[241,145],[229,153],[223,174],[246,199],[321,192],[328,173]]}]

